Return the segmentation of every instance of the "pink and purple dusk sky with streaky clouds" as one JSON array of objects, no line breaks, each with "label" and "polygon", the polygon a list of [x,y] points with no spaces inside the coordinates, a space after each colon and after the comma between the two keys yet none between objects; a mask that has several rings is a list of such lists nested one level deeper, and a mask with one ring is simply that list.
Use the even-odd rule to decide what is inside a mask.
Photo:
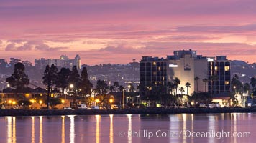
[{"label": "pink and purple dusk sky with streaky clouds", "polygon": [[256,62],[255,0],[0,0],[0,59],[127,64],[193,49]]}]

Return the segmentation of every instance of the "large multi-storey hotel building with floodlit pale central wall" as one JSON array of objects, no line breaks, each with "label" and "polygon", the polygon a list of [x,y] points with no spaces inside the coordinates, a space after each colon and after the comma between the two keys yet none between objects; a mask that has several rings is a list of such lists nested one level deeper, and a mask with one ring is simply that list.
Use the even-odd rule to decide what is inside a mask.
[{"label": "large multi-storey hotel building with floodlit pale central wall", "polygon": [[[206,57],[196,54],[197,51],[174,51],[172,56],[164,58],[142,56],[140,61],[140,91],[142,97],[152,94],[152,88],[168,91],[168,82],[173,83],[178,77],[183,87],[182,93],[191,95],[193,92],[211,92],[217,94],[228,91],[230,87],[230,61],[226,56]],[[195,79],[197,77],[197,80]],[[215,79],[214,79],[215,78]],[[204,80],[203,80],[204,79]],[[214,80],[213,80],[214,79]],[[186,88],[186,82],[191,87]],[[159,91],[157,91],[159,92]]]}]

